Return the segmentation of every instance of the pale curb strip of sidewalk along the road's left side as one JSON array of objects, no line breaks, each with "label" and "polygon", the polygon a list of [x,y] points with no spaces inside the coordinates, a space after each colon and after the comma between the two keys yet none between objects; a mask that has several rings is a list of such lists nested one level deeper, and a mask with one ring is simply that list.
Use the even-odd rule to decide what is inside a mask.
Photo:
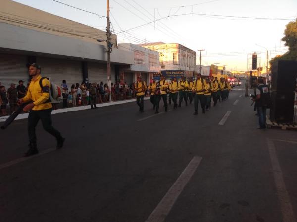
[{"label": "pale curb strip of sidewalk along the road's left side", "polygon": [[[149,100],[150,97],[145,97],[144,100]],[[118,104],[124,104],[124,103],[131,103],[131,102],[136,102],[136,99],[130,99],[130,100],[121,100],[121,101],[115,101],[115,102],[110,102],[110,103],[99,103],[96,106],[98,108],[100,107],[107,107],[107,106],[113,106],[113,105],[118,105]],[[53,110],[51,112],[51,114],[58,114],[58,113],[64,113],[64,112],[72,112],[72,111],[80,111],[80,110],[88,110],[91,109],[90,105],[87,106],[78,106],[78,107],[69,107],[69,108],[64,108],[64,109],[57,109],[57,110]],[[19,119],[26,119],[28,118],[29,113],[23,113],[23,114],[19,114],[15,120],[19,120]],[[0,122],[5,122],[5,120],[9,117],[9,115],[7,116],[1,116],[0,117]]]}]

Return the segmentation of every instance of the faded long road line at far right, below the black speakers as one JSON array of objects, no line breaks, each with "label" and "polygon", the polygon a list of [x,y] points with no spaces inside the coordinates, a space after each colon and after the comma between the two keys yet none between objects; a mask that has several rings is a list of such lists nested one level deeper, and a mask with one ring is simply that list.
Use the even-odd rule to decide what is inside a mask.
[{"label": "faded long road line at far right, below the black speakers", "polygon": [[274,176],[274,182],[276,185],[277,195],[281,204],[283,222],[296,222],[293,207],[290,202],[290,197],[284,182],[283,172],[277,158],[274,142],[268,138],[266,140],[269,148],[269,154],[270,154],[271,165],[273,169],[273,176]]}]

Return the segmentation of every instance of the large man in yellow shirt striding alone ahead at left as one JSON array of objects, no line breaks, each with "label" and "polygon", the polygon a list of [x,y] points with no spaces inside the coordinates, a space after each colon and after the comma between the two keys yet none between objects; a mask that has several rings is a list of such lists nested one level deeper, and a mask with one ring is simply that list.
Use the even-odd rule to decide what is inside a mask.
[{"label": "large man in yellow shirt striding alone ahead at left", "polygon": [[30,111],[28,117],[29,149],[25,156],[38,153],[35,128],[41,120],[43,128],[57,140],[57,149],[64,145],[65,138],[52,126],[51,111],[52,105],[49,98],[50,82],[47,78],[40,76],[41,68],[33,63],[29,66],[29,75],[32,77],[25,97],[18,100],[18,104],[28,103],[24,111]]}]

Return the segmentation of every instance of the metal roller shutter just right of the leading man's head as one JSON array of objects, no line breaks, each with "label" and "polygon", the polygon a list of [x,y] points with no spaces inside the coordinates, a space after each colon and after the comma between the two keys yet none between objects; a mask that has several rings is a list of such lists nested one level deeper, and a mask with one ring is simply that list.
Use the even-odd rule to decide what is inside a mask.
[{"label": "metal roller shutter just right of the leading man's head", "polygon": [[83,82],[82,63],[75,60],[38,57],[36,62],[41,66],[41,75],[49,77],[52,82],[61,85],[66,80],[68,88],[72,84]]}]

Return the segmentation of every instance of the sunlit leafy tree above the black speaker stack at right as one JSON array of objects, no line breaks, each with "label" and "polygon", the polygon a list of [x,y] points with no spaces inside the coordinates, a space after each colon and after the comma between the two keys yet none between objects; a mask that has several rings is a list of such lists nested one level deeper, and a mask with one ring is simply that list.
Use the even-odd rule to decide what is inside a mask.
[{"label": "sunlit leafy tree above the black speaker stack at right", "polygon": [[289,51],[282,56],[276,56],[270,60],[270,65],[278,60],[297,60],[297,19],[286,25],[282,41],[289,47]]}]

